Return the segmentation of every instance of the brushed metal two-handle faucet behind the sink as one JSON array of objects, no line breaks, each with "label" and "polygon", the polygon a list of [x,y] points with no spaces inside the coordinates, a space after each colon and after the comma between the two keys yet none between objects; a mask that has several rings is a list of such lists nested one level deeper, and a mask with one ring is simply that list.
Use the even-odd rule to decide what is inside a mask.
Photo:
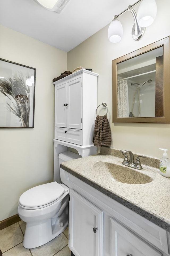
[{"label": "brushed metal two-handle faucet behind the sink", "polygon": [[[138,157],[136,158],[136,162],[134,160],[134,155],[132,153],[132,151],[130,150],[120,150],[120,152],[125,155],[124,160],[122,162],[123,165],[126,165],[128,167],[134,168],[134,169],[138,169],[138,170],[142,170],[142,166],[141,166],[141,162],[139,157],[145,157],[144,155],[138,155]],[[129,153],[129,159],[128,159],[128,155],[127,153]]]}]

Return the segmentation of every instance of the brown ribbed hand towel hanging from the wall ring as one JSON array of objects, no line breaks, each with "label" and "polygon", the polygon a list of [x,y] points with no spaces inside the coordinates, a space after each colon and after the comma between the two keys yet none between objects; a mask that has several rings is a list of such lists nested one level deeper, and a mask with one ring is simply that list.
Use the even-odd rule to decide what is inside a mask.
[{"label": "brown ribbed hand towel hanging from the wall ring", "polygon": [[107,115],[97,115],[95,121],[93,142],[94,146],[96,147],[111,146],[111,128]]}]

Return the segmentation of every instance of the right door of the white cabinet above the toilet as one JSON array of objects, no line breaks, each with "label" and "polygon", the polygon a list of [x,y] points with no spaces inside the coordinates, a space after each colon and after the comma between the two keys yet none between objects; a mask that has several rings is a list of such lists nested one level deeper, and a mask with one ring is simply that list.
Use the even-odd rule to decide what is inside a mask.
[{"label": "right door of the white cabinet above the toilet", "polygon": [[82,77],[67,83],[67,128],[82,129]]}]

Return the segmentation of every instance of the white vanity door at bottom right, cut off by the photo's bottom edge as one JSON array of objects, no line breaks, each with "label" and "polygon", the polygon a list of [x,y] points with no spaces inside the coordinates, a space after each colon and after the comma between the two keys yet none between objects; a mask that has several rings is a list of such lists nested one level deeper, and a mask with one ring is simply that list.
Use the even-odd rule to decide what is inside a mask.
[{"label": "white vanity door at bottom right, cut off by the photo's bottom edge", "polygon": [[148,245],[126,227],[111,218],[111,256],[161,256],[162,253]]}]

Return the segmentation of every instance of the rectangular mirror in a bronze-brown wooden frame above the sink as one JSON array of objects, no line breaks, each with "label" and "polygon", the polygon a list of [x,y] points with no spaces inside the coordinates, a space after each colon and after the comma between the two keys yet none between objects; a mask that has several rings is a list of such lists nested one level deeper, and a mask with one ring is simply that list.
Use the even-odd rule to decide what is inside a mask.
[{"label": "rectangular mirror in a bronze-brown wooden frame above the sink", "polygon": [[112,61],[113,123],[170,123],[169,37]]}]

